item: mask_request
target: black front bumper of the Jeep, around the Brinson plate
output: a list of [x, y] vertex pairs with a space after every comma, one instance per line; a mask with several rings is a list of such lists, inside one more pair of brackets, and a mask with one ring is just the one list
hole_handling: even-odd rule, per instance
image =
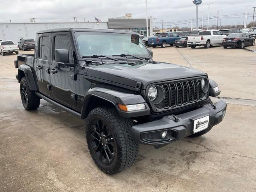
[[[135, 125], [131, 129], [132, 137], [137, 143], [154, 146], [175, 142], [193, 134], [196, 119], [209, 115], [208, 126], [220, 123], [226, 113], [226, 107], [227, 104], [221, 100], [184, 114], [164, 116], [160, 120]], [[154, 139], [154, 136], [159, 136], [165, 130], [170, 135], [168, 140]]]

